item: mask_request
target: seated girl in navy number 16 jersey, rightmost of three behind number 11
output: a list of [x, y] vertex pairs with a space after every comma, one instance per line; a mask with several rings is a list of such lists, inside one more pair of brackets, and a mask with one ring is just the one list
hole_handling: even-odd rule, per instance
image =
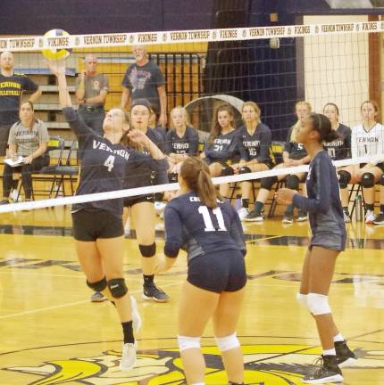
[[[260, 119], [262, 111], [255, 102], [245, 102], [242, 108], [244, 126], [238, 128], [239, 174], [265, 171], [273, 167], [271, 160], [271, 130]], [[249, 214], [249, 198], [252, 184], [241, 183], [241, 209], [243, 220]]]

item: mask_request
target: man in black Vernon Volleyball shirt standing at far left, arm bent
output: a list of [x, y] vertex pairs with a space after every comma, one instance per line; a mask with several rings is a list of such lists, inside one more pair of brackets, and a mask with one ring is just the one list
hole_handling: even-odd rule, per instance
[[0, 157], [5, 155], [8, 136], [13, 123], [19, 120], [21, 96], [30, 93], [29, 101], [41, 95], [38, 85], [23, 74], [13, 72], [13, 53], [0, 55]]

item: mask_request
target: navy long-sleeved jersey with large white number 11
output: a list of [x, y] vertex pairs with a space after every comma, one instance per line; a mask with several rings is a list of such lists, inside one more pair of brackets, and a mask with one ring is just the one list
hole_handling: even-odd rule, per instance
[[164, 253], [168, 257], [177, 257], [179, 249], [188, 252], [188, 261], [221, 250], [246, 253], [240, 219], [228, 202], [208, 209], [196, 193], [180, 195], [165, 208], [164, 225]]

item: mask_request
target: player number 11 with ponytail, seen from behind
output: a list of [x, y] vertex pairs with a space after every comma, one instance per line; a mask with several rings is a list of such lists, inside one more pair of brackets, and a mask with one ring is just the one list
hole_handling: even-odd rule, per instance
[[188, 252], [188, 278], [179, 302], [179, 350], [188, 384], [204, 385], [200, 338], [210, 318], [230, 384], [244, 381], [243, 354], [236, 326], [245, 294], [246, 244], [238, 214], [218, 200], [203, 160], [189, 157], [179, 173], [181, 195], [164, 211], [165, 257], [158, 271]]

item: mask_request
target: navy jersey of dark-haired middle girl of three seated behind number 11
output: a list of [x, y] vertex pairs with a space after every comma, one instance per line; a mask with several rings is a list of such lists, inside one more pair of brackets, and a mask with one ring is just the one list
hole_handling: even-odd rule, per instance
[[236, 160], [238, 154], [238, 136], [236, 130], [225, 135], [218, 135], [213, 143], [209, 144], [205, 149], [205, 160], [208, 163], [214, 161]]

